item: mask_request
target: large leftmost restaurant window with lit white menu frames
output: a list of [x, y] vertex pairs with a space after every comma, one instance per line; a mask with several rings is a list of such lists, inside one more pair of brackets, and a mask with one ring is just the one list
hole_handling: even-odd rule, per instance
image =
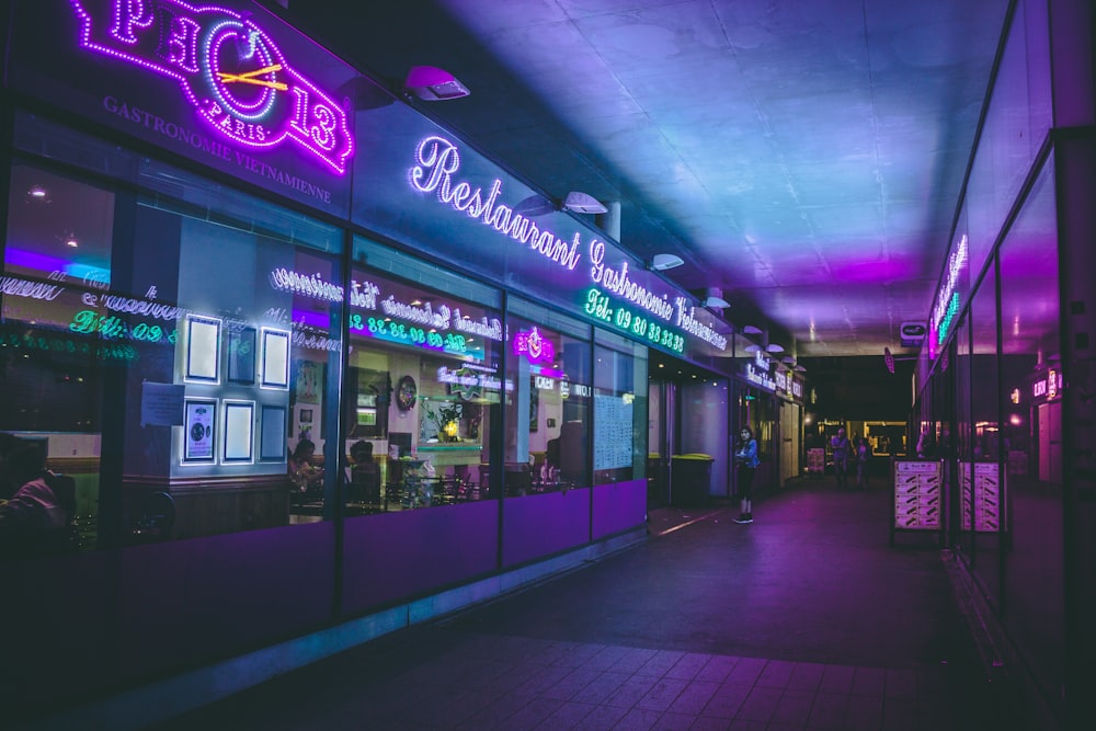
[[[342, 274], [322, 251], [338, 229], [207, 197], [197, 212], [12, 167], [0, 430], [41, 445], [72, 486], [79, 548], [332, 515]], [[304, 439], [315, 479], [297, 490], [287, 467]]]

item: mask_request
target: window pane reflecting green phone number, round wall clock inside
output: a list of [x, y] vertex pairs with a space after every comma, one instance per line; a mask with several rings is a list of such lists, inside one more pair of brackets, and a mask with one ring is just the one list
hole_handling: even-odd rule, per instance
[[492, 432], [512, 389], [500, 372], [501, 315], [446, 294], [475, 295], [471, 283], [450, 282], [444, 293], [423, 286], [453, 275], [364, 239], [355, 260], [420, 282], [351, 271], [341, 445], [347, 514], [493, 498]]

